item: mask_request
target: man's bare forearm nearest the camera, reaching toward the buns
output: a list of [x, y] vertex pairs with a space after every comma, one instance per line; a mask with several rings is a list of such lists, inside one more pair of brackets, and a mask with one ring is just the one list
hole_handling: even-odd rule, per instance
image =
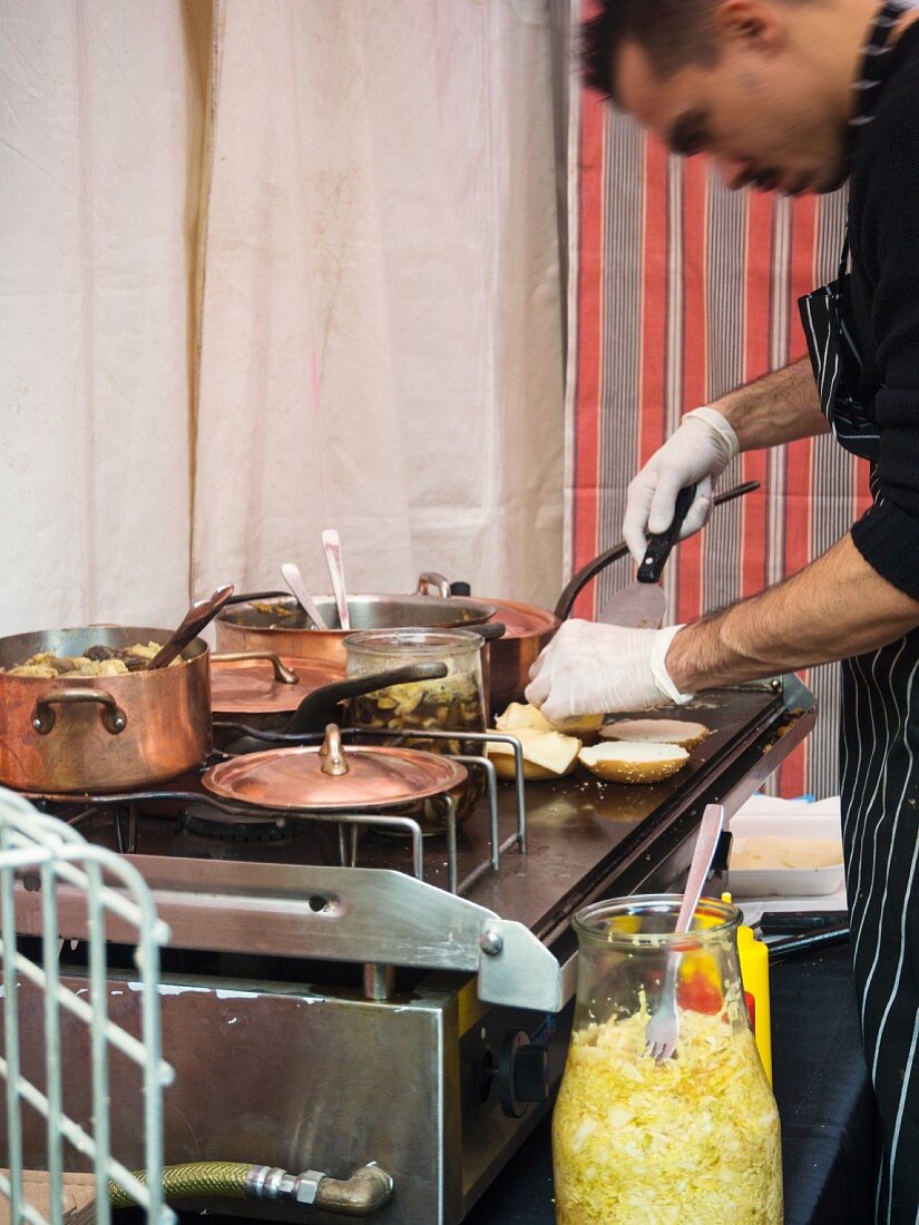
[[858, 655], [915, 626], [919, 603], [872, 570], [847, 534], [778, 587], [687, 625], [667, 670], [696, 693]]

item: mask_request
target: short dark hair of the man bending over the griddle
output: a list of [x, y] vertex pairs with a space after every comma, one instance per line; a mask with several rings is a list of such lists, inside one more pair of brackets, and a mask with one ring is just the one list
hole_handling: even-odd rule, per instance
[[714, 64], [718, 44], [712, 13], [719, 0], [600, 0], [581, 26], [584, 83], [615, 98], [613, 66], [624, 43], [636, 43], [665, 80], [687, 64]]

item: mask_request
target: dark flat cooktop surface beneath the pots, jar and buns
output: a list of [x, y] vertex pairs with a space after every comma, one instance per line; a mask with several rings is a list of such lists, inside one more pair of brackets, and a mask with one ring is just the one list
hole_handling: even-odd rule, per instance
[[[724, 794], [728, 784], [720, 795], [716, 793], [732, 764], [743, 758], [744, 768], [749, 768], [746, 757], [751, 752], [761, 756], [763, 740], [768, 745], [777, 739], [787, 718], [781, 692], [770, 688], [713, 692], [681, 708], [680, 713], [684, 712], [687, 718], [706, 723], [711, 735], [691, 750], [683, 771], [659, 784], [604, 783], [583, 769], [558, 782], [528, 783], [528, 854], [521, 854], [512, 844], [517, 828], [515, 788], [500, 784], [500, 842], [505, 848], [511, 845], [501, 855], [499, 869], [491, 870], [488, 813], [485, 804], [480, 804], [457, 833], [461, 893], [548, 940], [566, 926], [572, 910], [596, 895], [604, 882], [621, 880], [622, 892], [641, 887], [664, 853], [686, 842], [701, 805]], [[338, 862], [337, 823], [330, 823], [331, 816], [320, 822], [249, 810], [227, 822], [219, 813], [208, 818], [208, 796], [197, 777], [186, 775], [175, 786], [186, 793], [197, 789], [200, 802], [170, 806], [137, 797], [132, 805], [135, 840], [130, 848], [119, 845], [119, 831], [108, 805], [94, 809], [78, 828], [91, 842], [131, 851], [129, 858], [154, 887], [168, 888], [174, 878], [184, 882], [180, 888], [187, 888], [194, 877], [201, 888], [207, 888], [212, 880], [216, 886], [238, 891], [248, 888], [250, 877], [254, 887], [256, 881], [263, 882], [270, 865], [289, 870], [297, 865]], [[78, 799], [71, 802], [78, 807]], [[165, 811], [153, 820], [157, 807]], [[190, 862], [196, 860], [203, 862]], [[357, 866], [410, 872], [410, 843], [364, 831], [357, 844]], [[278, 878], [282, 875], [286, 873], [278, 873]], [[424, 839], [424, 880], [448, 889], [450, 865], [442, 837]]]

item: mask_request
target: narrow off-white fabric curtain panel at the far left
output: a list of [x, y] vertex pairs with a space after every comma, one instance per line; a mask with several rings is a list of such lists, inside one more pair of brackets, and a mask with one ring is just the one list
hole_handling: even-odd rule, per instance
[[181, 6], [154, 9], [0, 6], [5, 633], [186, 603], [202, 111]]

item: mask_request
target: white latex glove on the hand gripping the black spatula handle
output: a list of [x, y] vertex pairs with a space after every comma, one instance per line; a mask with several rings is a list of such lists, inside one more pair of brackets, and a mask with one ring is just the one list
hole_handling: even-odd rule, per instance
[[680, 540], [698, 532], [712, 510], [712, 485], [739, 451], [738, 436], [714, 408], [686, 413], [683, 424], [654, 452], [629, 486], [622, 538], [640, 565], [647, 538], [673, 523], [676, 495], [698, 483], [696, 496], [680, 529]]

